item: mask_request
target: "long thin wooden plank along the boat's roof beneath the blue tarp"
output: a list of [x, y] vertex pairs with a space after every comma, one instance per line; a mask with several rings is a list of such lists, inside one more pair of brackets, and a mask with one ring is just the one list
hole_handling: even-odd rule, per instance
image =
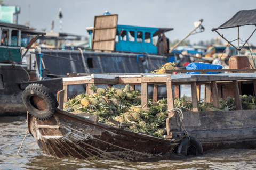
[[163, 70], [164, 73], [169, 74], [169, 73], [191, 73], [191, 72], [255, 72], [256, 69], [198, 69], [198, 70]]

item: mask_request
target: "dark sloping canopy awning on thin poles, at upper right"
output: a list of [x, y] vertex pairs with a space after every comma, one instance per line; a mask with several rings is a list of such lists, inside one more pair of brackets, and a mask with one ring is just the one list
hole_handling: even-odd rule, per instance
[[244, 25], [256, 25], [256, 10], [238, 11], [230, 20], [220, 25], [220, 27], [212, 28], [212, 31]]

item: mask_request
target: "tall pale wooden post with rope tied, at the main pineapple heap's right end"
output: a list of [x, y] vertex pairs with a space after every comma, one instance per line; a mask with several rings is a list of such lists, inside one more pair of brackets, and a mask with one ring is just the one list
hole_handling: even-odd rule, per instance
[[[168, 110], [174, 109], [174, 98], [173, 98], [173, 91], [172, 91], [172, 82], [168, 81], [166, 82], [166, 89], [167, 89], [167, 105]], [[173, 117], [175, 112], [168, 112], [168, 118], [166, 119], [166, 129], [167, 129], [167, 135], [170, 135], [170, 118]]]

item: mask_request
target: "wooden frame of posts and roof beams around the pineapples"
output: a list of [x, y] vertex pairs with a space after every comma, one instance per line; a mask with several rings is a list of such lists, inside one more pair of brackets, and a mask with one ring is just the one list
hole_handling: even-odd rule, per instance
[[[111, 88], [113, 85], [116, 84], [130, 84], [130, 89], [134, 90], [136, 84], [141, 84], [141, 104], [142, 106], [148, 107], [148, 85], [154, 85], [154, 95], [153, 101], [157, 102], [158, 98], [158, 85], [159, 84], [166, 84], [167, 89], [167, 105], [168, 110], [174, 109], [174, 97], [173, 97], [173, 85], [180, 86], [181, 84], [190, 84], [191, 85], [191, 96], [192, 96], [192, 106], [193, 112], [197, 112], [199, 110], [198, 107], [198, 89], [200, 89], [201, 84], [206, 84], [205, 88], [208, 89], [207, 94], [205, 96], [211, 97], [213, 105], [215, 108], [219, 108], [219, 95], [218, 95], [218, 86], [217, 82], [231, 82], [232, 86], [234, 87], [234, 97], [236, 103], [236, 109], [241, 110], [241, 99], [239, 97], [239, 86], [238, 81], [246, 81], [250, 80], [253, 81], [254, 90], [256, 91], [256, 76], [254, 77], [254, 73], [248, 73], [250, 76], [229, 76], [230, 74], [225, 75], [202, 75], [202, 74], [195, 74], [195, 75], [186, 75], [183, 78], [177, 77], [178, 75], [161, 75], [156, 77], [149, 77], [149, 76], [140, 76], [138, 77], [116, 77], [114, 79], [104, 79], [104, 78], [90, 78], [90, 79], [83, 79], [78, 80], [76, 78], [63, 78], [63, 89], [65, 90], [65, 101], [67, 101], [68, 96], [68, 86], [74, 84], [87, 84], [87, 92], [91, 94], [93, 91], [90, 90], [90, 86], [92, 84], [107, 84], [108, 88]], [[172, 79], [173, 77], [173, 79]], [[199, 85], [199, 86], [198, 86]], [[177, 87], [175, 87], [177, 89]], [[208, 101], [210, 102], [210, 101]], [[168, 118], [166, 119], [166, 128], [167, 128], [167, 135], [170, 135], [170, 118], [175, 115], [175, 112], [169, 112]]]

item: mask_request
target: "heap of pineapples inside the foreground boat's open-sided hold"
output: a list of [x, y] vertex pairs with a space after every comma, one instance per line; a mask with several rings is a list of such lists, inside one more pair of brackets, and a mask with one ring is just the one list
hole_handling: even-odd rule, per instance
[[[149, 98], [149, 107], [141, 106], [141, 92], [139, 89], [130, 90], [126, 85], [122, 89], [97, 88], [93, 85], [91, 89], [94, 94], [80, 94], [73, 99], [69, 99], [64, 104], [64, 109], [68, 112], [87, 112], [99, 117], [99, 122], [112, 124], [108, 118], [116, 121], [132, 123], [130, 128], [125, 128], [133, 132], [153, 135], [163, 138], [166, 135], [167, 99], [163, 98], [157, 103]], [[241, 96], [243, 109], [256, 109], [255, 97], [249, 95]], [[228, 97], [219, 99], [220, 109], [214, 108], [213, 103], [199, 101], [199, 111], [235, 110], [235, 99]], [[192, 111], [192, 103], [184, 98], [174, 100], [175, 108], [180, 108], [183, 112]]]

